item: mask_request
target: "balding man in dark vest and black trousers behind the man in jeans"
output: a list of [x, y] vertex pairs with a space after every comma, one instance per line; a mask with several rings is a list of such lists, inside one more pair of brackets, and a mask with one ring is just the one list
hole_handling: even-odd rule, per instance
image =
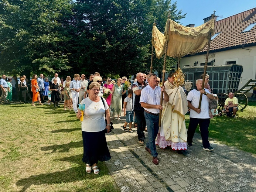
[[144, 117], [144, 109], [140, 104], [140, 93], [143, 88], [147, 86], [147, 83], [144, 82], [143, 73], [137, 73], [137, 81], [132, 84], [133, 91], [133, 111], [135, 112], [135, 117], [137, 120], [137, 134], [139, 139], [139, 145], [144, 145], [145, 134], [144, 129], [146, 127], [146, 119]]

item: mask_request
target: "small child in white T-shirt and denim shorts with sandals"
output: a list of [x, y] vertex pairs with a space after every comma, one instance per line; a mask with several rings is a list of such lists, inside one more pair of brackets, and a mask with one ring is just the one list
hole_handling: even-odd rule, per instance
[[132, 130], [132, 122], [133, 122], [133, 101], [132, 101], [132, 95], [133, 91], [132, 89], [128, 90], [128, 97], [124, 99], [124, 104], [123, 104], [123, 115], [126, 117], [126, 121], [124, 122], [123, 130], [128, 131], [126, 126], [129, 123], [129, 132], [133, 133]]

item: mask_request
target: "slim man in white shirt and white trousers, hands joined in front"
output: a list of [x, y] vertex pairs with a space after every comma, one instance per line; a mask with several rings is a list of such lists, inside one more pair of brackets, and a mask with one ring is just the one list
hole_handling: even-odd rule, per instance
[[74, 75], [74, 80], [71, 81], [70, 85], [69, 85], [69, 89], [71, 90], [71, 94], [72, 94], [72, 99], [73, 99], [73, 109], [74, 112], [77, 113], [77, 104], [78, 104], [78, 97], [79, 97], [79, 91], [81, 89], [81, 85], [79, 82], [79, 74], [75, 74]]

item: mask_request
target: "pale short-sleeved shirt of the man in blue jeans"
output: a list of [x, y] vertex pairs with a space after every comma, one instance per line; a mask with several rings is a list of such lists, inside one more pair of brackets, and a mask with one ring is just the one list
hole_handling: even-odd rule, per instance
[[[141, 90], [140, 93], [140, 104], [141, 103], [148, 103], [148, 104], [160, 104], [160, 97], [161, 97], [161, 88], [156, 86], [155, 89], [151, 88], [150, 85], [147, 85], [144, 89]], [[148, 112], [157, 114], [160, 113], [159, 109], [147, 109], [144, 107], [145, 110]]]

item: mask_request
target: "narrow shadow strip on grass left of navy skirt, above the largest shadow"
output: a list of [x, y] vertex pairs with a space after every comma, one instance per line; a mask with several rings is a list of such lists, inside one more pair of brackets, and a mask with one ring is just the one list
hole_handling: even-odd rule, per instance
[[51, 151], [49, 153], [54, 153], [54, 152], [67, 152], [69, 151], [70, 148], [78, 148], [78, 147], [83, 147], [83, 141], [76, 141], [76, 142], [70, 142], [62, 145], [50, 145], [47, 147], [41, 147], [42, 151]]

